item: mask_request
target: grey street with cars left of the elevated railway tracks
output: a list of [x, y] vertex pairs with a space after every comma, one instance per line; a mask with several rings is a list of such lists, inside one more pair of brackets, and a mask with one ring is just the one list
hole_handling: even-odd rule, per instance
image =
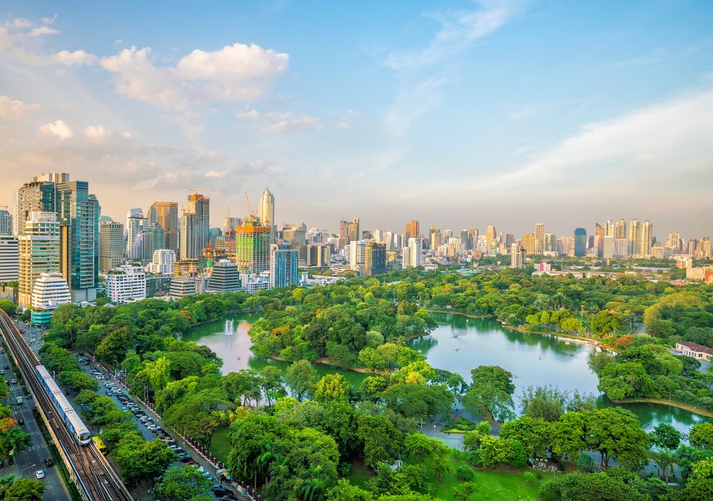
[[[21, 329], [24, 328], [21, 327]], [[6, 365], [10, 366], [6, 353], [0, 354], [0, 364], [3, 367]], [[44, 464], [46, 458], [51, 458], [51, 453], [32, 413], [34, 401], [22, 393], [19, 381], [18, 383], [11, 384], [13, 378], [18, 378], [16, 373], [12, 373], [11, 370], [5, 370], [4, 376], [10, 387], [10, 394], [6, 399], [6, 403], [11, 407], [15, 419], [24, 419], [25, 423], [22, 425], [22, 428], [30, 434], [31, 442], [29, 448], [19, 455], [16, 455], [14, 465], [9, 465], [7, 460], [3, 462], [0, 468], [0, 475], [15, 475], [16, 479], [35, 478], [36, 470], [43, 470], [45, 477], [41, 482], [43, 482], [46, 487], [43, 499], [47, 501], [68, 500], [69, 495], [65, 490], [57, 466], [46, 467]], [[17, 403], [18, 397], [22, 397], [23, 399], [21, 404]]]

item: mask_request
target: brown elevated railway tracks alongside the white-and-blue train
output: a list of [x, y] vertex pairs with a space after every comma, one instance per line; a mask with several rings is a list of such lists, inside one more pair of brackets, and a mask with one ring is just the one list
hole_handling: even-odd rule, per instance
[[68, 468], [71, 475], [76, 478], [75, 483], [81, 495], [91, 501], [133, 501], [135, 499], [133, 495], [97, 448], [93, 444], [82, 446], [76, 443], [63, 418], [35, 376], [35, 367], [39, 365], [39, 361], [34, 351], [4, 311], [0, 311], [0, 331], [21, 376], [34, 395], [36, 405], [47, 416], [57, 448], [68, 459]]

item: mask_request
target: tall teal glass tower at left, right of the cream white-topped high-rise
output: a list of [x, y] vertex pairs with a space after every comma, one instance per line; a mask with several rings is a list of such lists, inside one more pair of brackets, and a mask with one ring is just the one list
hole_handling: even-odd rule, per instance
[[101, 207], [86, 181], [57, 185], [60, 272], [72, 301], [94, 301], [99, 282], [99, 216]]

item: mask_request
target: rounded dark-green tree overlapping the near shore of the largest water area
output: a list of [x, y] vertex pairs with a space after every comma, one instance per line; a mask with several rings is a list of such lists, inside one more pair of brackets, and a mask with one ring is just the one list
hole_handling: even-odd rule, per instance
[[463, 406], [472, 413], [501, 422], [510, 418], [515, 407], [513, 374], [498, 366], [480, 366], [471, 374], [473, 382], [463, 397]]

